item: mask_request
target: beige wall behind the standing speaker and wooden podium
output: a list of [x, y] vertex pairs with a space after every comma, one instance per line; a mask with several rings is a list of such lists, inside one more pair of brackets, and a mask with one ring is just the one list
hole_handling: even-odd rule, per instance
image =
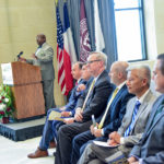
[[44, 33], [55, 50], [55, 99], [61, 106], [65, 101], [57, 83], [55, 13], [54, 0], [0, 0], [0, 63], [14, 61], [21, 50], [30, 58], [37, 48], [36, 35]]

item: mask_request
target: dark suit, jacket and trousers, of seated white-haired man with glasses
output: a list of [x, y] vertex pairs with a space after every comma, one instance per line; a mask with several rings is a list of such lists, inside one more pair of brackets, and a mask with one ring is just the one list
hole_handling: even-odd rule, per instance
[[[59, 128], [58, 139], [57, 139], [57, 151], [55, 157], [55, 164], [70, 164], [71, 161], [71, 145], [72, 139], [90, 129], [92, 124], [91, 116], [94, 115], [98, 118], [104, 112], [108, 95], [112, 94], [114, 85], [109, 82], [109, 77], [107, 71], [103, 71], [97, 78], [93, 91], [91, 92], [85, 108], [83, 110], [82, 122], [73, 122], [71, 125], [63, 125]], [[82, 107], [85, 96], [87, 95], [87, 90], [78, 99], [77, 107]]]

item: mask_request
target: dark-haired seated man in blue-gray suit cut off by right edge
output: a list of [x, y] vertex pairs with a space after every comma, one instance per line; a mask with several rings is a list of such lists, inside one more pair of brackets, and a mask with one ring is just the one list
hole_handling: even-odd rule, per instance
[[130, 164], [164, 163], [164, 54], [157, 56], [153, 80], [155, 90], [162, 95], [153, 104], [142, 139], [130, 153]]

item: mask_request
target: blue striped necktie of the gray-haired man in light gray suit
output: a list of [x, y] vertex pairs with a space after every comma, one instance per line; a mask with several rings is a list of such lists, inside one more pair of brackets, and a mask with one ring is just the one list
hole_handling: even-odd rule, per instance
[[136, 102], [136, 106], [134, 106], [134, 109], [133, 109], [133, 114], [132, 114], [132, 119], [131, 119], [131, 122], [129, 125], [129, 127], [127, 128], [127, 130], [125, 131], [125, 137], [128, 137], [130, 131], [132, 130], [133, 128], [133, 124], [134, 124], [134, 119], [136, 119], [136, 116], [138, 114], [138, 110], [139, 110], [139, 107], [140, 107], [141, 103], [139, 101]]

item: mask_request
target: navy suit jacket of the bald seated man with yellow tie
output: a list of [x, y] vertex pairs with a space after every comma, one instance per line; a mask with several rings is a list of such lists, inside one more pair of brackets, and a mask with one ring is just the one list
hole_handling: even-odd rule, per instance
[[[105, 137], [108, 137], [110, 132], [116, 131], [120, 127], [122, 117], [126, 113], [127, 102], [134, 95], [128, 93], [126, 84], [119, 90], [113, 103], [110, 104], [104, 121], [103, 130]], [[112, 96], [109, 96], [108, 101], [110, 97]], [[103, 115], [98, 117], [97, 122], [101, 122]]]

